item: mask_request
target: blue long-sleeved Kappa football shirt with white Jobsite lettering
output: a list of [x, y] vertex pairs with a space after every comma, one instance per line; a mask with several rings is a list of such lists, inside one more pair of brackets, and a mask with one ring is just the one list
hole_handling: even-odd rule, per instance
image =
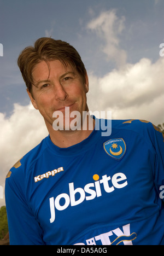
[[11, 168], [11, 245], [164, 245], [164, 136], [143, 120], [101, 132], [69, 148], [48, 136]]

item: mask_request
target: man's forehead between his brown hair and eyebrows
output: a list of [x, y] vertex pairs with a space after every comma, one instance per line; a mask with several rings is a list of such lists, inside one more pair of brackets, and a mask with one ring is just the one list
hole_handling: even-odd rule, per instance
[[69, 63], [63, 65], [59, 60], [41, 61], [32, 71], [33, 80], [42, 78], [50, 78], [52, 76], [58, 77], [66, 72], [75, 72], [75, 69]]

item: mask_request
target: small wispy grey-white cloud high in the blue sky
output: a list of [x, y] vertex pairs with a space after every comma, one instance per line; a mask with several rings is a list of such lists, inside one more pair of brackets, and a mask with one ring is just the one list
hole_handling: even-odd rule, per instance
[[87, 29], [95, 32], [102, 39], [102, 51], [108, 60], [114, 61], [118, 67], [126, 63], [126, 52], [120, 48], [122, 31], [125, 29], [125, 16], [118, 18], [114, 9], [103, 11], [97, 18], [87, 24]]

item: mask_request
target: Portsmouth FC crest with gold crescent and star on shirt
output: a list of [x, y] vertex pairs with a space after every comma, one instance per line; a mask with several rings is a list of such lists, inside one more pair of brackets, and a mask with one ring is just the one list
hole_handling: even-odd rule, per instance
[[108, 155], [116, 160], [121, 160], [126, 152], [126, 144], [122, 138], [109, 139], [109, 141], [104, 142], [103, 148]]

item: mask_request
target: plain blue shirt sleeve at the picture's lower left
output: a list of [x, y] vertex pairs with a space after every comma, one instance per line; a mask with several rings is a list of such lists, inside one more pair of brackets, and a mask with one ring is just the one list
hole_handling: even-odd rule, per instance
[[12, 173], [5, 181], [10, 245], [44, 245], [43, 230], [28, 207]]

